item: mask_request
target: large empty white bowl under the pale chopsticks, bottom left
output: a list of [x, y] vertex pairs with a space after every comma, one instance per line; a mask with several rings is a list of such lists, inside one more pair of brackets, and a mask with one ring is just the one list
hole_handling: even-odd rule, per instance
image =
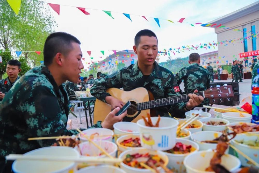
[[[62, 146], [43, 147], [32, 150], [24, 155], [80, 157], [80, 154], [74, 148]], [[12, 170], [16, 173], [69, 173], [76, 171], [76, 163], [69, 161], [16, 160], [12, 164]]]

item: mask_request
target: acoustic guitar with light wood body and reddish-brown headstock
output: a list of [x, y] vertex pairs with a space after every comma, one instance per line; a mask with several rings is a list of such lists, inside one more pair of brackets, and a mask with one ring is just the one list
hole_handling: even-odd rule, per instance
[[[154, 100], [153, 94], [143, 87], [136, 88], [131, 91], [123, 91], [118, 88], [109, 88], [106, 92], [110, 93], [111, 96], [113, 96], [114, 98], [117, 98], [125, 103], [128, 101], [131, 102], [131, 106], [127, 110], [127, 115], [123, 119], [123, 121], [130, 122], [138, 121], [142, 118], [141, 115], [146, 116], [147, 113], [149, 113], [151, 116], [155, 116], [155, 110], [152, 108], [185, 102], [190, 99], [188, 94], [183, 94]], [[197, 94], [197, 96], [201, 95], [204, 98], [209, 99], [234, 97], [231, 85], [210, 88], [205, 91], [197, 92], [195, 94]], [[111, 110], [111, 105], [96, 99], [93, 114], [94, 123], [97, 123], [97, 121], [103, 121], [105, 117], [111, 112]]]

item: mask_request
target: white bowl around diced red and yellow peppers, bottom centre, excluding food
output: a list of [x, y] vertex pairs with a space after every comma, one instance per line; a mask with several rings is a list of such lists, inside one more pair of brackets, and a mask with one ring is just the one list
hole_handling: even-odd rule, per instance
[[[132, 155], [132, 154], [136, 154], [136, 153], [139, 153], [139, 154], [149, 153], [149, 154], [153, 154], [153, 155], [158, 155], [164, 161], [165, 166], [167, 166], [167, 164], [168, 164], [168, 157], [164, 152], [148, 150], [145, 148], [140, 148], [140, 149], [136, 149], [136, 150], [126, 150], [119, 155], [119, 159], [124, 160], [126, 158], [127, 154]], [[123, 169], [124, 171], [126, 171], [127, 173], [143, 173], [143, 172], [153, 173], [149, 169], [133, 168], [133, 167], [130, 167], [130, 166], [124, 164], [123, 162], [120, 163], [120, 168]], [[161, 167], [158, 167], [157, 170], [162, 171], [163, 169]]]

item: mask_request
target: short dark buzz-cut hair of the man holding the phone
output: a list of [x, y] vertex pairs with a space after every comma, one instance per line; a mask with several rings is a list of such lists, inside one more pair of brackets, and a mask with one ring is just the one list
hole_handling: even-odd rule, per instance
[[57, 53], [67, 55], [71, 49], [73, 49], [71, 43], [81, 44], [80, 41], [66, 32], [54, 32], [51, 33], [44, 44], [43, 56], [44, 64], [46, 66], [51, 65], [53, 58]]

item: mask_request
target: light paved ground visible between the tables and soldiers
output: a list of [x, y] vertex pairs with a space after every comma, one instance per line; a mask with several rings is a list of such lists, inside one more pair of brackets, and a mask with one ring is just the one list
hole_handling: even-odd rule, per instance
[[[214, 80], [214, 82], [217, 82], [217, 80]], [[220, 80], [219, 82], [231, 82], [231, 80]], [[184, 89], [183, 83], [180, 85], [181, 89]], [[247, 96], [251, 96], [251, 79], [245, 79], [243, 80], [243, 82], [239, 82], [239, 93], [240, 95], [240, 101], [244, 98], [246, 98]], [[222, 105], [213, 105], [215, 107], [226, 107], [226, 106], [222, 106]], [[87, 111], [88, 112], [88, 111]], [[85, 119], [85, 113], [84, 111], [81, 111], [81, 116], [84, 116], [81, 118], [82, 120], [82, 124], [80, 124], [80, 119], [79, 119], [79, 113], [78, 112], [74, 112], [78, 117], [74, 117], [72, 114], [69, 114], [69, 119], [71, 119], [72, 121], [72, 129], [75, 128], [87, 128], [87, 123], [86, 123], [86, 119]], [[213, 113], [213, 110], [210, 110], [211, 114]], [[88, 123], [90, 126], [90, 120], [89, 120], [89, 115], [88, 115]]]

